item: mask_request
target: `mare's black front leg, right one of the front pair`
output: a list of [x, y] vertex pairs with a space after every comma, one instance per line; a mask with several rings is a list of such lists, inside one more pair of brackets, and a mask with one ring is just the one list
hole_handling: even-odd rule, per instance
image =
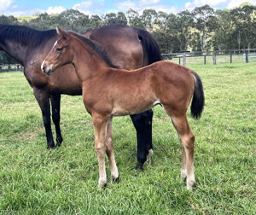
[[60, 127], [60, 120], [61, 120], [61, 94], [55, 94], [50, 96], [51, 102], [51, 112], [52, 112], [52, 120], [55, 124], [55, 131], [56, 131], [56, 142], [57, 146], [61, 146], [61, 142], [63, 138], [61, 136], [61, 127]]

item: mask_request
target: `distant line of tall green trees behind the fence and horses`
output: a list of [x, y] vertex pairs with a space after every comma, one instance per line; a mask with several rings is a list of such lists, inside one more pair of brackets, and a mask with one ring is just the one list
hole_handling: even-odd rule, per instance
[[[38, 14], [31, 19], [0, 16], [0, 24], [24, 25], [38, 30], [60, 26], [75, 32], [87, 32], [111, 23], [135, 26], [152, 33], [162, 53], [256, 48], [256, 6], [243, 3], [236, 9], [212, 9], [209, 5], [177, 14], [144, 9], [143, 14], [129, 9], [106, 15], [84, 15], [67, 9], [60, 15]], [[2, 57], [1, 57], [2, 55]], [[0, 52], [0, 62], [12, 61]], [[9, 62], [4, 62], [9, 63]]]

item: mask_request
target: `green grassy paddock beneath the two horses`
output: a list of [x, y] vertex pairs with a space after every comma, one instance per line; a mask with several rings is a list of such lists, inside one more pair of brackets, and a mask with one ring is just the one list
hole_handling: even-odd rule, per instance
[[[154, 154], [136, 165], [129, 117], [113, 119], [119, 183], [97, 190], [93, 128], [81, 96], [62, 96], [61, 148], [46, 149], [38, 103], [22, 73], [0, 73], [0, 213], [181, 214], [256, 212], [256, 64], [192, 65], [206, 106], [195, 132], [196, 187], [180, 180], [181, 146], [154, 108]], [[108, 181], [110, 178], [107, 165]]]

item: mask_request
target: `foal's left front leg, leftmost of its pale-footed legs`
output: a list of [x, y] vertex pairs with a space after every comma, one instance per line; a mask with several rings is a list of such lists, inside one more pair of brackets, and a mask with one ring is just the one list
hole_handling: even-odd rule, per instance
[[95, 151], [99, 163], [99, 183], [98, 189], [101, 189], [107, 185], [107, 175], [105, 167], [105, 154], [106, 154], [106, 131], [108, 124], [108, 117], [101, 114], [93, 113], [91, 115], [92, 123], [95, 133]]

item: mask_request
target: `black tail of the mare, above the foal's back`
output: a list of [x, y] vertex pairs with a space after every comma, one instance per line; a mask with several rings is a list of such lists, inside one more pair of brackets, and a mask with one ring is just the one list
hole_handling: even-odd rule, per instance
[[152, 35], [143, 29], [136, 28], [136, 30], [143, 46], [143, 67], [156, 61], [162, 61], [160, 47]]

